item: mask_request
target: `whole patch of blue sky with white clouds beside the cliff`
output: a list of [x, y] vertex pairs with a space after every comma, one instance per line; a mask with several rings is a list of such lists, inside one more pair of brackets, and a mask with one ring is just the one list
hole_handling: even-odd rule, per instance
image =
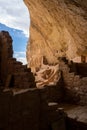
[[13, 39], [14, 57], [26, 64], [29, 37], [29, 13], [23, 0], [0, 0], [0, 31], [9, 31]]

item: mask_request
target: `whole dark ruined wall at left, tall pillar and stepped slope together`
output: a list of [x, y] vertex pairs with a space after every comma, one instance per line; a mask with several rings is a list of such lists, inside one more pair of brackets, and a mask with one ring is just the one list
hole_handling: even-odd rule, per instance
[[8, 32], [0, 32], [0, 80], [7, 87], [35, 87], [30, 68], [13, 58], [12, 38]]

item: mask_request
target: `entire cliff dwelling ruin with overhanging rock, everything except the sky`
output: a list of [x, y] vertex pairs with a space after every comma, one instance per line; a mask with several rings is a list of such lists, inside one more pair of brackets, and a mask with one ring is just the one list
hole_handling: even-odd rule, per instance
[[87, 130], [87, 1], [24, 2], [27, 65], [0, 32], [0, 130]]

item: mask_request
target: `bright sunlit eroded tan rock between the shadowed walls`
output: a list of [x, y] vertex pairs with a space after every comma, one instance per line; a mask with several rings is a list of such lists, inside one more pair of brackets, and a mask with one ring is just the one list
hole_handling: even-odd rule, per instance
[[36, 72], [37, 87], [44, 87], [45, 85], [56, 85], [61, 77], [59, 66], [43, 65], [40, 71]]

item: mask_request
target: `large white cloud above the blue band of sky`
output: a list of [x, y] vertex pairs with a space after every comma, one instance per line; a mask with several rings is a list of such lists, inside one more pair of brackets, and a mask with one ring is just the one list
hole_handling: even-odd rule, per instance
[[29, 37], [29, 12], [23, 0], [0, 0], [0, 23]]

